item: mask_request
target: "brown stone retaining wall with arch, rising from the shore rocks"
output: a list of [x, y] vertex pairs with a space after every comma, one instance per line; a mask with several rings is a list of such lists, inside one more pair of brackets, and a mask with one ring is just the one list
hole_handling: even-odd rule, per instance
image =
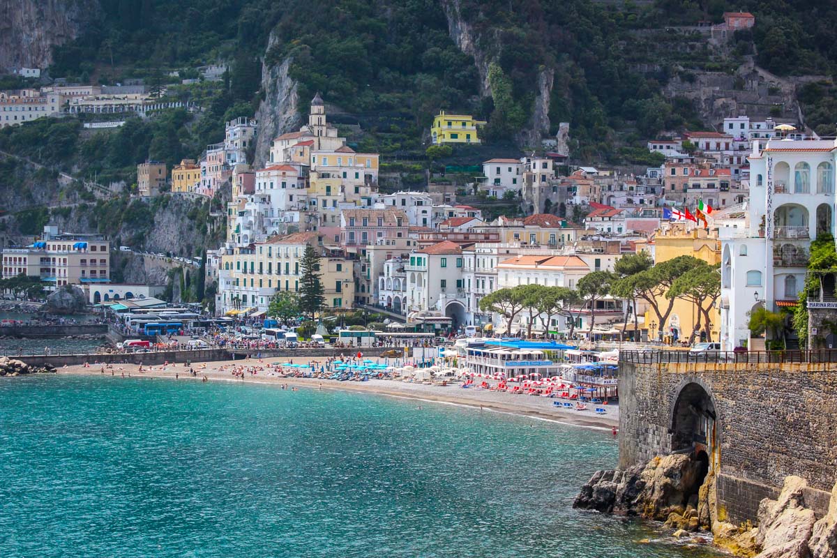
[[[703, 395], [706, 397], [703, 397]], [[757, 519], [786, 476], [824, 514], [837, 480], [837, 366], [619, 364], [619, 467], [705, 449], [721, 519]]]

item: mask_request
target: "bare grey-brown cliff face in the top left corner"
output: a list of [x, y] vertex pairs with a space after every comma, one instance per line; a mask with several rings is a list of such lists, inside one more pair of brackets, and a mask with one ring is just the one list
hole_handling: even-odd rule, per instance
[[0, 69], [47, 67], [99, 12], [98, 0], [0, 0]]

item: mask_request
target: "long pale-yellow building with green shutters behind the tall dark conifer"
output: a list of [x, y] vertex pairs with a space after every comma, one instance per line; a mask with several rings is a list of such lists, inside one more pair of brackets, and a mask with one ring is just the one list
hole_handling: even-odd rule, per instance
[[[322, 240], [318, 233], [292, 233], [229, 248], [221, 256], [216, 309], [220, 313], [264, 311], [274, 294], [299, 293], [302, 256], [307, 246], [322, 252]], [[326, 308], [352, 308], [355, 282], [351, 260], [322, 256], [320, 279]]]

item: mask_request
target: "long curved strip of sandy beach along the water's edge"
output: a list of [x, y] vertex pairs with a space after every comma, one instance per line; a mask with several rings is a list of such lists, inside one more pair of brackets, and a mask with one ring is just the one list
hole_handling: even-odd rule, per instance
[[[286, 362], [285, 358], [271, 358], [271, 359], [247, 359], [245, 361], [218, 361], [193, 364], [193, 370], [197, 372], [198, 376], [189, 374], [188, 366], [168, 365], [168, 366], [143, 366], [140, 371], [139, 365], [133, 364], [115, 364], [112, 367], [105, 367], [103, 365], [90, 364], [90, 367], [85, 366], [68, 366], [60, 368], [60, 374], [84, 374], [90, 376], [100, 376], [104, 369], [105, 375], [121, 376], [139, 376], [139, 377], [158, 377], [171, 378], [177, 377], [178, 381], [202, 381], [203, 376], [207, 376], [208, 381], [232, 381], [232, 382], [248, 382], [275, 386], [287, 384], [292, 387], [300, 387], [307, 389], [338, 389], [347, 392], [358, 393], [375, 393], [388, 397], [407, 397], [411, 399], [439, 402], [455, 405], [465, 405], [469, 407], [482, 407], [484, 410], [493, 412], [507, 412], [518, 415], [526, 415], [529, 417], [537, 417], [556, 422], [563, 422], [573, 424], [579, 427], [593, 427], [610, 430], [612, 427], [619, 426], [619, 406], [606, 406], [606, 414], [597, 415], [593, 412], [593, 406], [588, 407], [586, 411], [576, 411], [574, 409], [559, 409], [553, 407], [552, 402], [562, 401], [560, 399], [553, 399], [548, 397], [536, 397], [529, 395], [512, 395], [506, 392], [490, 392], [488, 390], [478, 390], [474, 388], [463, 389], [460, 387], [460, 382], [454, 382], [448, 386], [432, 386], [417, 382], [407, 382], [398, 380], [369, 380], [369, 381], [334, 381], [321, 380], [318, 378], [296, 378], [280, 376], [275, 372], [275, 365]], [[317, 362], [318, 364], [324, 362], [325, 359], [306, 358], [296, 359], [296, 362]], [[256, 374], [251, 375], [249, 371], [244, 373], [244, 377], [236, 377], [233, 371], [236, 368], [244, 366], [245, 370], [255, 368]]]

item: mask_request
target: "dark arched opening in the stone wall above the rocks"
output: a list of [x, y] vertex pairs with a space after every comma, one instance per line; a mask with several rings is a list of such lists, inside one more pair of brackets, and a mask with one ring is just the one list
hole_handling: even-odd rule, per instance
[[[715, 404], [709, 393], [695, 382], [680, 390], [671, 415], [671, 451], [675, 453], [705, 452], [715, 447]], [[708, 463], [708, 457], [707, 457]]]

